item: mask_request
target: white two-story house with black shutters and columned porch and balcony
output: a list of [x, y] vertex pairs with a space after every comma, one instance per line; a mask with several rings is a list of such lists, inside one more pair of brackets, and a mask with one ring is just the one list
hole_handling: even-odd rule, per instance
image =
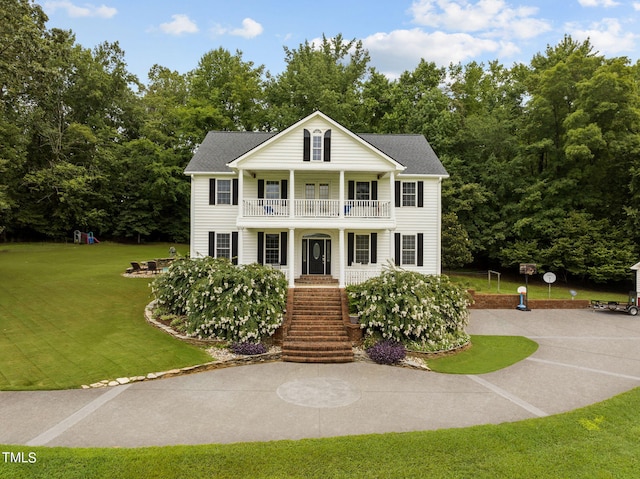
[[441, 182], [421, 135], [356, 134], [321, 112], [278, 133], [212, 131], [191, 177], [191, 257], [279, 268], [339, 286], [389, 261], [440, 273]]

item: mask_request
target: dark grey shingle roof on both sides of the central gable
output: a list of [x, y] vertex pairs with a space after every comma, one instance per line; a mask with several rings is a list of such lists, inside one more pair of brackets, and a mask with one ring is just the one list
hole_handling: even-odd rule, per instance
[[[210, 131], [185, 169], [190, 173], [230, 173], [227, 164], [277, 133]], [[365, 142], [406, 167], [405, 174], [447, 175], [422, 135], [359, 134]]]

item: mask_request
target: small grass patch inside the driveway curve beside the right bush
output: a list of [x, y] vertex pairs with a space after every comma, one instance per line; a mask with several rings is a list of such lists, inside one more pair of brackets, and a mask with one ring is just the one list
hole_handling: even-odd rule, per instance
[[471, 336], [471, 348], [453, 356], [427, 361], [432, 371], [448, 374], [484, 374], [531, 356], [538, 343], [523, 336]]

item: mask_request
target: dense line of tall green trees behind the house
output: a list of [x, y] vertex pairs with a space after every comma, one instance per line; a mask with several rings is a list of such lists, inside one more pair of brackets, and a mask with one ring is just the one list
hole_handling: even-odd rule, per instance
[[118, 43], [48, 29], [30, 0], [0, 0], [0, 234], [186, 241], [182, 171], [209, 130], [277, 131], [321, 110], [356, 132], [420, 133], [443, 185], [443, 260], [564, 277], [627, 277], [640, 254], [640, 65], [565, 37], [529, 64], [389, 79], [357, 40], [284, 48], [286, 67], [225, 49], [146, 83]]

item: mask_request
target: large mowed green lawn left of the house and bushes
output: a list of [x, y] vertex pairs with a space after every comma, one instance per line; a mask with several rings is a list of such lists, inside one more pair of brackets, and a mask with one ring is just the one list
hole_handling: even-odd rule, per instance
[[210, 360], [149, 326], [149, 280], [121, 276], [169, 246], [0, 245], [0, 390], [74, 388]]

